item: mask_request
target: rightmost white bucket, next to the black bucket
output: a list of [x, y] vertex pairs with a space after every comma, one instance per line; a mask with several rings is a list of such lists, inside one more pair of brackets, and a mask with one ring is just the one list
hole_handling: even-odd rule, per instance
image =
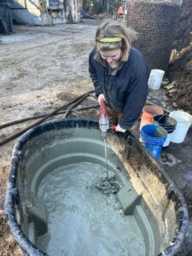
[[183, 111], [172, 111], [170, 116], [177, 120], [175, 131], [172, 133], [172, 143], [183, 143], [189, 127], [192, 123], [192, 116]]

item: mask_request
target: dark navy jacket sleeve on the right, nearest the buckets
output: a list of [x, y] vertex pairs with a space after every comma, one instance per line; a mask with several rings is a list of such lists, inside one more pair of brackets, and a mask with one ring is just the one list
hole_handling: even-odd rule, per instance
[[119, 120], [119, 125], [125, 130], [131, 129], [142, 113], [148, 96], [148, 77], [149, 73], [132, 79], [131, 91], [125, 96], [125, 107]]

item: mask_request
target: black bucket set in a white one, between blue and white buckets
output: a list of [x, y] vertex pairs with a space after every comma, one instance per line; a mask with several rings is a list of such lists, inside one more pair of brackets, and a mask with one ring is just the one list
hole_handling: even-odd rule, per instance
[[167, 131], [166, 142], [163, 144], [163, 147], [169, 146], [172, 139], [172, 133], [176, 129], [177, 121], [171, 116], [158, 114], [154, 116], [153, 123], [154, 125], [160, 125]]

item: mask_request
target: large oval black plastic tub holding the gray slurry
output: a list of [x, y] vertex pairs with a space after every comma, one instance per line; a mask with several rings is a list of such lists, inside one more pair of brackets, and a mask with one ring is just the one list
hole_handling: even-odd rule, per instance
[[[125, 132], [123, 137], [120, 133], [111, 130], [108, 133], [110, 134], [107, 143], [109, 170], [110, 172], [114, 170], [119, 182], [121, 175], [123, 175], [120, 190], [122, 193], [119, 191], [121, 193], [120, 197], [126, 199], [126, 193], [124, 192], [128, 193], [129, 198], [132, 195], [130, 194], [132, 192], [126, 186], [125, 177], [127, 175], [133, 177], [131, 178], [131, 186], [135, 187], [139, 184], [139, 191], [142, 191], [142, 195], [139, 195], [136, 199], [134, 198], [130, 207], [125, 203], [124, 209], [126, 211], [126, 208], [129, 207], [131, 212], [139, 211], [139, 214], [134, 214], [134, 218], [137, 215], [136, 218], [138, 218], [139, 225], [143, 229], [145, 254], [176, 255], [178, 250], [182, 249], [188, 230], [188, 208], [183, 194], [177, 188], [176, 183], [172, 182], [172, 178], [166, 174], [163, 167], [152, 156], [146, 154], [145, 148], [130, 132]], [[46, 215], [42, 213], [46, 212], [47, 204], [38, 197], [37, 193], [39, 184], [48, 174], [45, 171], [52, 172], [54, 166], [58, 168], [60, 165], [65, 165], [65, 163], [68, 165], [84, 162], [85, 160], [93, 162], [95, 165], [101, 163], [102, 166], [105, 166], [103, 147], [104, 143], [98, 119], [82, 117], [50, 120], [33, 127], [19, 138], [19, 141], [15, 144], [10, 166], [5, 212], [10, 231], [24, 255], [48, 256], [49, 253], [42, 251], [42, 247], [38, 245], [38, 238], [55, 236], [55, 230], [53, 230], [53, 234], [51, 234], [51, 230], [46, 234], [49, 218], [46, 218]], [[117, 166], [119, 166], [120, 172]], [[123, 174], [124, 167], [125, 175]], [[92, 171], [94, 175], [94, 170]], [[78, 170], [76, 176], [79, 183], [81, 183]], [[61, 184], [59, 183], [59, 177], [57, 182]], [[152, 182], [154, 182], [153, 185]], [[62, 184], [60, 187], [64, 191]], [[93, 187], [91, 186], [90, 189], [93, 189]], [[95, 191], [92, 191], [92, 193], [95, 196]], [[101, 194], [99, 191], [97, 193]], [[54, 201], [54, 198], [50, 200]], [[160, 207], [158, 207], [159, 205]], [[61, 210], [61, 207], [59, 210]], [[144, 212], [148, 207], [149, 212], [146, 216]], [[55, 211], [54, 208], [53, 211]], [[153, 218], [150, 219], [150, 212], [153, 213], [155, 222]], [[50, 213], [52, 214], [52, 212]], [[73, 212], [71, 213], [73, 214]], [[126, 214], [127, 212], [125, 218], [128, 216]], [[68, 216], [70, 224], [73, 218], [70, 218], [70, 215]], [[97, 226], [100, 226], [103, 220], [96, 219], [96, 221]], [[56, 224], [55, 219], [53, 219], [54, 223]], [[72, 224], [72, 228], [73, 226], [74, 224]], [[67, 230], [67, 227], [64, 226], [64, 229]], [[69, 233], [76, 235], [76, 230], [70, 228], [68, 230]], [[84, 236], [83, 231], [82, 233]], [[57, 237], [59, 237], [58, 234]], [[127, 237], [129, 238], [129, 232]], [[125, 239], [125, 236], [122, 239]], [[75, 242], [72, 243], [73, 247], [75, 247]], [[63, 239], [55, 240], [53, 246], [58, 247], [60, 243], [63, 243]], [[88, 247], [90, 247], [89, 243]], [[66, 248], [64, 249], [67, 252]], [[69, 250], [68, 254], [70, 253]], [[79, 252], [76, 254], [79, 255]], [[84, 255], [84, 252], [80, 254]], [[57, 253], [57, 255], [59, 254]]]

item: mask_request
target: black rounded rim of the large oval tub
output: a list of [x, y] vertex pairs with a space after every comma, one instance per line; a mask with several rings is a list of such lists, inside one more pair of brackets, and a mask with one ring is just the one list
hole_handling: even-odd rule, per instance
[[[6, 190], [6, 197], [5, 197], [5, 213], [7, 218], [7, 223], [9, 224], [10, 231], [15, 238], [15, 241], [19, 244], [20, 248], [26, 255], [37, 255], [37, 256], [45, 256], [48, 255], [43, 251], [39, 250], [29, 239], [24, 235], [23, 231], [20, 230], [20, 225], [18, 224], [15, 216], [15, 206], [17, 200], [17, 188], [15, 187], [16, 182], [16, 175], [17, 175], [17, 168], [18, 164], [21, 159], [21, 150], [23, 145], [30, 140], [32, 137], [36, 137], [38, 134], [44, 133], [44, 131], [52, 131], [54, 129], [63, 129], [63, 128], [76, 128], [77, 125], [79, 127], [93, 127], [94, 129], [99, 129], [98, 119], [95, 118], [87, 118], [87, 117], [71, 117], [67, 119], [53, 119], [47, 122], [44, 122], [41, 125], [37, 125], [26, 131], [15, 143], [15, 147], [12, 154], [11, 165], [9, 169], [9, 180]], [[108, 131], [109, 133], [113, 133], [114, 131]], [[144, 154], [153, 161], [153, 163], [158, 166], [158, 169], [162, 173], [164, 177], [166, 177], [167, 183], [169, 183], [172, 187], [172, 191], [177, 195], [177, 200], [181, 205], [180, 209], [180, 223], [179, 229], [175, 233], [173, 241], [170, 242], [170, 245], [164, 249], [158, 256], [166, 255], [166, 256], [173, 256], [177, 253], [178, 249], [181, 247], [183, 243], [184, 236], [187, 232], [188, 228], [188, 208], [187, 204], [184, 200], [183, 194], [177, 188], [176, 183], [172, 180], [166, 171], [163, 169], [160, 164], [154, 160], [154, 158], [145, 150], [143, 145], [137, 141], [137, 138], [134, 137], [130, 131], [126, 131], [125, 133], [117, 132], [116, 135], [118, 137], [124, 137], [126, 142], [128, 141], [129, 137], [131, 137], [134, 142], [137, 144], [138, 148], [143, 150]]]

